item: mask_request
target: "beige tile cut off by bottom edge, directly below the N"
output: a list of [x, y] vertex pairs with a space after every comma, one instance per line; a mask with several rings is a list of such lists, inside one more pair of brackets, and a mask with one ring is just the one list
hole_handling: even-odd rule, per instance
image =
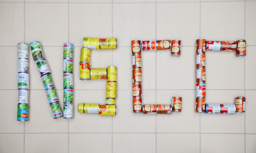
[[26, 134], [25, 153], [68, 153], [68, 134]]

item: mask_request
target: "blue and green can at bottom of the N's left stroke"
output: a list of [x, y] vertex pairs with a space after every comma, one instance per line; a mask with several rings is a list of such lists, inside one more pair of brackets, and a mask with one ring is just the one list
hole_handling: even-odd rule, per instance
[[18, 103], [17, 121], [29, 121], [29, 104]]

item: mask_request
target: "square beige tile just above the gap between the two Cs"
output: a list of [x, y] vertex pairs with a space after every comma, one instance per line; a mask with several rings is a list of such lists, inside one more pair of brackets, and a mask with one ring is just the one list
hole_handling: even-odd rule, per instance
[[200, 3], [157, 3], [158, 40], [178, 39], [184, 46], [195, 46], [199, 37]]

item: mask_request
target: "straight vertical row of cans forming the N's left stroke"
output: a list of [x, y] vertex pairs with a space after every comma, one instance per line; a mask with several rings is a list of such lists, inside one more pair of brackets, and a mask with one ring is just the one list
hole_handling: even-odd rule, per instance
[[17, 121], [29, 121], [29, 55], [28, 44], [18, 44], [18, 110]]

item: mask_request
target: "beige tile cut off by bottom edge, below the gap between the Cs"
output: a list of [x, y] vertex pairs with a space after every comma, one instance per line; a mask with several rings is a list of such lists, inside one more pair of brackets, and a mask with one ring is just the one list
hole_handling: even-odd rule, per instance
[[199, 153], [199, 134], [157, 134], [157, 153]]

